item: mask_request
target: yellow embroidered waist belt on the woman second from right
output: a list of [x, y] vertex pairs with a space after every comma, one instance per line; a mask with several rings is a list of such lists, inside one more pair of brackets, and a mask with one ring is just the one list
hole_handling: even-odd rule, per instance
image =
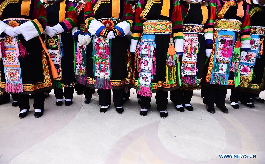
[[236, 19], [216, 19], [213, 28], [215, 30], [241, 31], [241, 21]]

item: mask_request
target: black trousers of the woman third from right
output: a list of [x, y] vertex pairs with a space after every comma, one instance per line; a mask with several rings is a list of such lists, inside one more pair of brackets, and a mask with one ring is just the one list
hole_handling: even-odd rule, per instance
[[193, 91], [187, 91], [183, 89], [176, 89], [170, 91], [170, 100], [175, 105], [190, 104]]

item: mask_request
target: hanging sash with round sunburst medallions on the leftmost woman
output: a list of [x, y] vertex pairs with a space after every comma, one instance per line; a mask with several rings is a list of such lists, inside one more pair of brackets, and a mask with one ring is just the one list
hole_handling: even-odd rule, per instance
[[18, 37], [6, 36], [1, 43], [7, 93], [23, 92], [17, 41]]

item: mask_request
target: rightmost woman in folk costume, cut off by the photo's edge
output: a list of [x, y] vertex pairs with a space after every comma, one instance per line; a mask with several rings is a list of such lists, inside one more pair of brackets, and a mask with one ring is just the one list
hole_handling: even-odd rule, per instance
[[[264, 90], [265, 1], [259, 1], [250, 1], [252, 6], [249, 11], [251, 47], [245, 58], [240, 59], [240, 86], [231, 91], [231, 106], [235, 109], [239, 109], [238, 101], [250, 108], [255, 108], [250, 97], [257, 97], [259, 101], [261, 98], [258, 95]], [[257, 95], [252, 96], [253, 94]]]

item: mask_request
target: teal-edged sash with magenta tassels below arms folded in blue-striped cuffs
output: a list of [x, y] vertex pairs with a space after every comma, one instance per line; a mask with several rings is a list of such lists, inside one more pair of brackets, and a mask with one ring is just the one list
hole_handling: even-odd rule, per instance
[[111, 39], [94, 36], [92, 43], [94, 59], [94, 76], [97, 89], [112, 89], [111, 77]]

